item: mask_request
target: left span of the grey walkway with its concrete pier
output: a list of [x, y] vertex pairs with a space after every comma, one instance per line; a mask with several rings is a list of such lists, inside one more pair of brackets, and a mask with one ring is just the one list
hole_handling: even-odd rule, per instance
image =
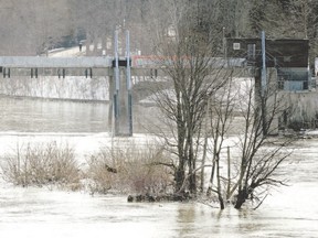
[[[131, 108], [131, 94], [127, 96], [127, 84], [131, 79], [124, 68], [126, 67], [120, 65], [117, 75], [113, 57], [0, 57], [0, 73], [2, 73], [3, 79], [19, 78], [23, 80], [24, 78], [25, 80], [50, 77], [54, 82], [55, 78], [71, 77], [75, 79], [78, 77], [77, 82], [80, 78], [86, 78], [88, 82], [92, 78], [93, 80], [98, 77], [108, 78], [108, 95], [113, 106], [109, 107], [109, 122], [113, 123], [112, 121], [115, 120], [115, 136], [132, 134], [132, 123], [128, 120], [131, 119], [131, 109], [129, 109], [129, 107]], [[118, 83], [116, 77], [118, 77]], [[21, 80], [18, 80], [18, 84]], [[61, 89], [61, 87], [59, 88]]]

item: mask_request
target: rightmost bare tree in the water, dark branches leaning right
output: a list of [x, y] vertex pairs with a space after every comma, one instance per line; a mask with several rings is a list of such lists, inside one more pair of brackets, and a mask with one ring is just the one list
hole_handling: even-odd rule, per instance
[[[276, 172], [290, 154], [286, 147], [293, 141], [269, 136], [277, 130], [277, 117], [283, 111], [282, 96], [275, 79], [268, 83], [265, 93], [261, 93], [259, 87], [253, 83], [246, 87], [246, 93], [241, 113], [244, 127], [236, 143], [240, 154], [236, 167], [239, 174], [229, 194], [229, 197], [235, 194], [235, 208], [241, 208], [246, 199], [262, 204], [259, 195], [264, 195], [271, 186], [284, 184], [284, 178], [277, 176]], [[262, 107], [266, 107], [266, 110], [262, 110]]]

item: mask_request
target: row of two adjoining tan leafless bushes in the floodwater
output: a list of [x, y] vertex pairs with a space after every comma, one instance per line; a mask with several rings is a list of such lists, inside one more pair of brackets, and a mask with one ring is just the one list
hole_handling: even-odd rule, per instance
[[[87, 160], [81, 171], [74, 150], [56, 142], [17, 147], [1, 164], [7, 182], [20, 186], [57, 185], [80, 190], [86, 186], [92, 194], [170, 192], [173, 177], [167, 165], [169, 156], [161, 147], [135, 144], [102, 148]], [[82, 186], [83, 184], [83, 186]]]

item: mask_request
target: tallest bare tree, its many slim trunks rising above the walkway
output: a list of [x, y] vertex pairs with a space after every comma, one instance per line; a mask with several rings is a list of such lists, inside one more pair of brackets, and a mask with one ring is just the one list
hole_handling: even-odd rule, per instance
[[169, 136], [165, 133], [165, 139], [170, 149], [176, 149], [178, 158], [173, 165], [176, 192], [189, 188], [194, 194], [208, 100], [227, 80], [222, 69], [224, 62], [215, 58], [222, 32], [213, 34], [213, 29], [209, 29], [209, 19], [200, 14], [203, 8], [200, 2], [165, 3], [161, 7], [167, 8], [163, 12], [168, 14], [161, 28], [156, 29], [155, 50], [156, 61], [169, 76], [166, 85], [170, 88], [159, 88], [156, 96], [171, 130]]

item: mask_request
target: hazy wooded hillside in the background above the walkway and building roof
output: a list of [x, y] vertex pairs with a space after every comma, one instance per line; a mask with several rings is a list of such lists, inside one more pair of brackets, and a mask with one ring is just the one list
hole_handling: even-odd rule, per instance
[[130, 30], [132, 50], [149, 54], [152, 36], [168, 31], [182, 6], [200, 12], [200, 31], [212, 37], [257, 37], [264, 30], [273, 39], [308, 37], [317, 55], [317, 0], [0, 0], [0, 55], [112, 40], [116, 26]]

